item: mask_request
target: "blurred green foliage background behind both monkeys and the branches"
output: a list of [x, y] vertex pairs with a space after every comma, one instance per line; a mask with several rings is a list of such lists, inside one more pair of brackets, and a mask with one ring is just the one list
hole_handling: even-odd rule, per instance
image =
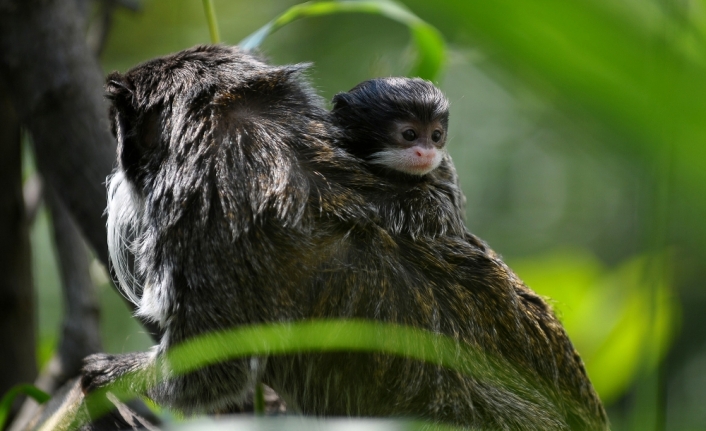
[[[297, 2], [213, 3], [237, 44]], [[436, 83], [469, 229], [551, 298], [614, 430], [706, 429], [706, 1], [402, 3], [447, 43]], [[113, 14], [106, 74], [210, 40], [198, 0], [135, 4]], [[407, 27], [370, 14], [298, 20], [260, 50], [313, 63], [326, 100], [408, 74], [416, 53]], [[40, 366], [62, 316], [48, 220], [31, 233]], [[91, 275], [105, 350], [146, 349], [97, 261]]]

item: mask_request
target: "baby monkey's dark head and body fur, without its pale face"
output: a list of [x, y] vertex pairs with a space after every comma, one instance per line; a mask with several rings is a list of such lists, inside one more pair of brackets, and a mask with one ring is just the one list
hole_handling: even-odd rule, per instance
[[[393, 127], [400, 121], [431, 124], [448, 129], [449, 102], [434, 84], [419, 78], [376, 78], [364, 81], [333, 98], [332, 122], [338, 145], [371, 162], [392, 145]], [[444, 137], [444, 140], [446, 138]], [[439, 167], [423, 176], [397, 172], [365, 163], [377, 181], [365, 190], [366, 198], [390, 232], [413, 237], [463, 235], [466, 199], [458, 186], [451, 158], [440, 150]]]

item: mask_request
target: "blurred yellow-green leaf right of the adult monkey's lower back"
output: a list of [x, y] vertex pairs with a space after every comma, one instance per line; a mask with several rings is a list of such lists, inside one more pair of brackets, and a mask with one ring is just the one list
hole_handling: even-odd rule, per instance
[[[664, 256], [638, 256], [613, 270], [582, 250], [514, 262], [518, 275], [556, 304], [601, 399], [610, 404], [666, 353], [677, 325]], [[656, 262], [659, 260], [660, 262]]]

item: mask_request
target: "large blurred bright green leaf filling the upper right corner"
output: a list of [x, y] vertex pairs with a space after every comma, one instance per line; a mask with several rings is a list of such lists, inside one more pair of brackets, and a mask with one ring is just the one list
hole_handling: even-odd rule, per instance
[[[687, 50], [699, 52], [695, 58], [666, 18], [641, 26], [595, 0], [408, 4], [444, 22], [447, 31], [472, 36], [459, 41], [482, 47], [536, 88], [553, 89], [558, 99], [630, 137], [618, 143], [623, 149], [660, 163], [662, 147], [674, 148], [679, 177], [692, 191], [706, 183], [703, 38], [690, 38], [700, 41]], [[685, 31], [700, 34], [703, 25]], [[706, 200], [696, 199], [688, 210], [702, 216]]]

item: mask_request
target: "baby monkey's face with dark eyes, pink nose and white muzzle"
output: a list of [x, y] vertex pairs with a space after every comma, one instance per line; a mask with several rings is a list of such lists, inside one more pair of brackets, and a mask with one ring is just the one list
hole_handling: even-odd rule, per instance
[[371, 154], [370, 163], [410, 175], [425, 175], [441, 163], [446, 130], [440, 120], [394, 121], [387, 145]]

